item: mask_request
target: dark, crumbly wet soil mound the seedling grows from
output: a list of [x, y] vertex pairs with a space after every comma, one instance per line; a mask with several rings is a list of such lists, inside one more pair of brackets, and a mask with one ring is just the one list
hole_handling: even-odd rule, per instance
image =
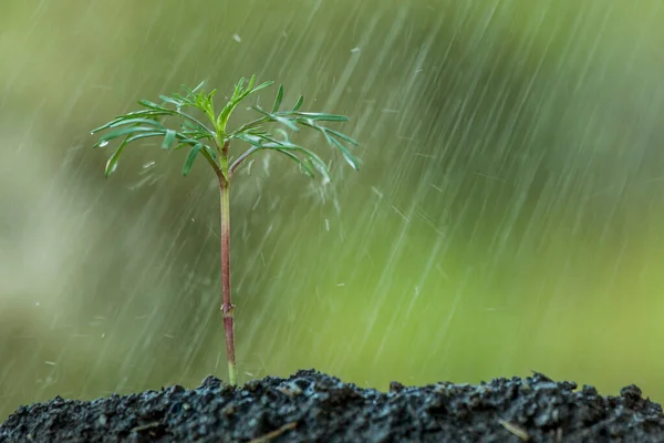
[[620, 396], [535, 373], [479, 385], [390, 392], [299, 371], [234, 389], [208, 377], [93, 401], [19, 408], [0, 442], [664, 442], [662, 406], [634, 385]]

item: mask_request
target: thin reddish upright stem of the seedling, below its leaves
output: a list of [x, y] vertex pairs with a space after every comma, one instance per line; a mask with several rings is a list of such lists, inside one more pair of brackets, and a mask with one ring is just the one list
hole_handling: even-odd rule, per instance
[[219, 177], [221, 203], [221, 311], [224, 312], [224, 331], [226, 333], [226, 356], [228, 358], [228, 382], [238, 383], [238, 370], [235, 359], [235, 305], [230, 302], [230, 186], [229, 182]]

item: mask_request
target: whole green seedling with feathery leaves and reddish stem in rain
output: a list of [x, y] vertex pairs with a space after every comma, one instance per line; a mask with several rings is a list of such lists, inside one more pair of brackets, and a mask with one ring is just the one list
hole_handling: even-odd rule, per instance
[[[144, 109], [116, 116], [113, 121], [92, 131], [112, 130], [101, 136], [94, 147], [104, 147], [110, 142], [121, 138], [122, 142], [106, 163], [105, 174], [108, 176], [117, 167], [117, 161], [124, 148], [132, 142], [149, 137], [162, 137], [162, 148], [179, 150], [188, 147], [189, 152], [183, 165], [183, 175], [187, 175], [199, 156], [215, 172], [219, 182], [220, 197], [220, 246], [221, 246], [221, 311], [224, 312], [224, 329], [226, 333], [226, 354], [228, 357], [228, 378], [230, 384], [237, 384], [237, 365], [235, 358], [235, 332], [234, 310], [235, 305], [230, 298], [230, 182], [237, 168], [252, 154], [270, 150], [284, 154], [297, 162], [300, 169], [313, 177], [317, 173], [330, 179], [328, 165], [312, 151], [291, 142], [287, 130], [299, 131], [300, 127], [318, 131], [328, 144], [339, 151], [343, 158], [355, 169], [359, 169], [357, 159], [350, 153], [344, 142], [357, 145], [347, 135], [321, 126], [321, 122], [345, 122], [347, 117], [336, 114], [302, 112], [300, 106], [304, 97], [300, 95], [291, 110], [280, 111], [283, 99], [283, 86], [279, 86], [277, 97], [271, 111], [260, 106], [253, 106], [260, 116], [248, 123], [241, 124], [235, 130], [228, 130], [228, 121], [236, 107], [249, 95], [272, 85], [274, 82], [264, 82], [255, 86], [256, 75], [252, 75], [245, 86], [245, 78], [237, 83], [232, 96], [226, 105], [217, 113], [215, 111], [214, 96], [217, 90], [206, 92], [201, 82], [198, 86], [189, 89], [183, 85], [185, 94], [174, 93], [160, 95], [162, 104], [141, 100]], [[195, 116], [185, 110], [191, 109], [203, 114]], [[179, 120], [177, 128], [167, 127], [163, 124], [166, 117]], [[204, 121], [207, 120], [206, 123]], [[274, 128], [273, 133], [267, 130], [268, 125], [277, 124], [282, 127]], [[241, 141], [249, 144], [249, 148], [232, 158], [230, 143]]]

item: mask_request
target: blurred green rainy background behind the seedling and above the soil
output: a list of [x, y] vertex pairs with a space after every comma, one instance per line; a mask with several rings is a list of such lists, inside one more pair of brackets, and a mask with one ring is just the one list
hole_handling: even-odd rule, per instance
[[153, 142], [105, 179], [90, 131], [252, 73], [349, 115], [363, 168], [237, 176], [242, 382], [537, 370], [664, 400], [662, 22], [657, 0], [6, 0], [0, 420], [226, 378], [214, 176]]

